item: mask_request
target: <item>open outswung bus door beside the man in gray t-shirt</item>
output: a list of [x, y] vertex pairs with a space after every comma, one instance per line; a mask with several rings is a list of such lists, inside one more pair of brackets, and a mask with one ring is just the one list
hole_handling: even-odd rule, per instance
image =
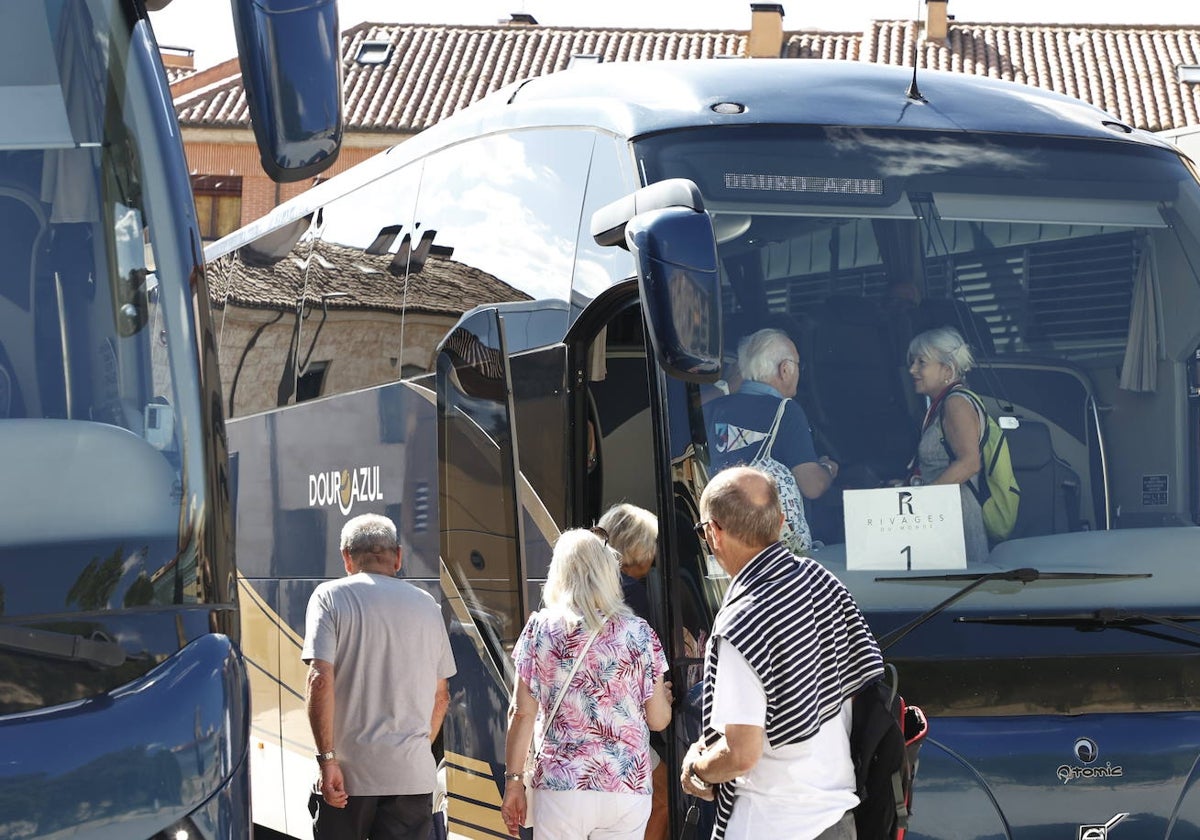
[[504, 324], [466, 314], [438, 348], [442, 589], [458, 672], [443, 728], [451, 834], [504, 834], [504, 720], [512, 646], [528, 614]]

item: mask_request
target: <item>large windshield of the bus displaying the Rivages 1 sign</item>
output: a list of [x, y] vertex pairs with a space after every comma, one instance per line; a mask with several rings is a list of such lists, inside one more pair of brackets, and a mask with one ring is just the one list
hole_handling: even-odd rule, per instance
[[[950, 326], [971, 348], [966, 383], [1006, 430], [1020, 482], [1012, 535], [961, 571], [1147, 572], [1122, 584], [1121, 605], [1109, 590], [1080, 596], [1079, 583], [1019, 586], [1019, 598], [998, 600], [989, 593], [1003, 588], [984, 586], [955, 613], [1176, 605], [1187, 572], [1177, 559], [1196, 548], [1200, 188], [1175, 152], [1120, 139], [757, 126], [662, 133], [637, 155], [648, 184], [700, 187], [718, 242], [724, 376], [672, 385], [672, 457], [701, 468], [677, 475], [724, 466], [712, 407], [743, 386], [739, 341], [786, 332], [815, 454], [840, 469], [804, 503], [814, 556], [887, 634], [953, 584], [856, 571], [847, 532], [860, 524], [847, 524], [845, 493], [917, 484], [929, 402], [914, 390], [910, 342]], [[1076, 649], [1070, 632], [1064, 649]], [[904, 644], [944, 647], [928, 635]]]

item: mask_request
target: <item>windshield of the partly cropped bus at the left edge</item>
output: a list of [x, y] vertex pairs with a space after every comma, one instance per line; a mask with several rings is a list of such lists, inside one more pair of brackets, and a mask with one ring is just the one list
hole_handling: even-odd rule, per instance
[[[178, 648], [149, 618], [106, 618], [199, 598], [187, 475], [202, 473], [179, 428], [198, 397], [176, 388], [196, 377], [191, 265], [163, 192], [161, 144], [178, 138], [156, 127], [162, 71], [116, 0], [16, 5], [0, 40], [0, 452], [24, 476], [0, 511], [0, 616], [121, 636], [131, 656], [152, 637]], [[29, 654], [17, 707], [103, 688], [95, 664], [43, 683]], [[42, 694], [52, 682], [65, 694]]]

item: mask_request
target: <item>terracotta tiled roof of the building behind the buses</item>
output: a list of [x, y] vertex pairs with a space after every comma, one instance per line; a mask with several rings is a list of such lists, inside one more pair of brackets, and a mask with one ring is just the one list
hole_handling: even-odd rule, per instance
[[[918, 37], [923, 67], [1067, 94], [1150, 131], [1200, 122], [1200, 84], [1176, 79], [1178, 65], [1200, 65], [1200, 26], [950, 22], [946, 40], [932, 42], [917, 22], [878, 20], [862, 35], [786, 32], [781, 55], [912, 66]], [[740, 56], [745, 43], [744, 31], [364, 23], [342, 35], [346, 128], [420, 131], [503, 85], [564, 70], [576, 55], [606, 62]], [[364, 47], [380, 62], [360, 64]], [[185, 126], [247, 125], [235, 65], [220, 76], [204, 86], [192, 77], [188, 92], [173, 86]]]

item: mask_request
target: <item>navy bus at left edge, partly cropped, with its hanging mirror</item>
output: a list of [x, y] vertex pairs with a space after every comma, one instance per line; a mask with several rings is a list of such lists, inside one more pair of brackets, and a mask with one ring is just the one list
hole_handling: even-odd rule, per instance
[[[332, 2], [234, 6], [264, 163], [319, 172]], [[224, 419], [158, 48], [142, 0], [0, 20], [0, 836], [244, 840]]]

